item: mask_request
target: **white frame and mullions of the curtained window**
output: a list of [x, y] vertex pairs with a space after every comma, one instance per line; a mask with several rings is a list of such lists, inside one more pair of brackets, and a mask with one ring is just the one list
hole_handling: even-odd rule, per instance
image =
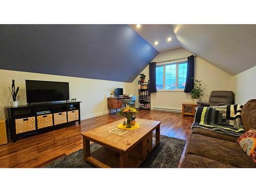
[[[183, 60], [183, 61], [179, 61], [179, 62], [166, 62], [166, 63], [163, 63], [161, 65], [157, 65], [156, 67], [163, 67], [163, 88], [164, 89], [157, 89], [157, 92], [184, 92], [184, 89], [177, 89], [178, 88], [178, 85], [179, 85], [179, 65], [180, 64], [183, 64], [183, 63], [187, 63], [187, 60]], [[168, 65], [176, 65], [176, 84], [175, 84], [175, 87], [176, 89], [175, 90], [165, 90], [165, 66], [168, 66]]]

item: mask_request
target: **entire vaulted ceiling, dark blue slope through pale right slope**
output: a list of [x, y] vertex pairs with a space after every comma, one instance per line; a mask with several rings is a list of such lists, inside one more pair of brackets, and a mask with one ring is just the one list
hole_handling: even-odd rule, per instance
[[255, 45], [256, 25], [0, 25], [0, 69], [132, 82], [184, 48], [234, 75], [255, 66]]

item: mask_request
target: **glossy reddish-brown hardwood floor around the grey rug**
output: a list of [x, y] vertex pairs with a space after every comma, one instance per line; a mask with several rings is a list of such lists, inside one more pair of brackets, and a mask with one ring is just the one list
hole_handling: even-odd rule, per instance
[[[138, 118], [161, 121], [161, 135], [187, 139], [193, 116], [141, 110]], [[82, 148], [81, 132], [121, 119], [116, 114], [102, 115], [52, 132], [9, 142], [0, 146], [0, 167], [42, 167]], [[182, 155], [183, 158], [184, 154]]]

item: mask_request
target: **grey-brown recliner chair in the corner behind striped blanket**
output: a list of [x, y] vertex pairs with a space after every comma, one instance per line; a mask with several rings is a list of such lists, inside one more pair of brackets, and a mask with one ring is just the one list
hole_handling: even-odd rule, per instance
[[209, 102], [197, 101], [197, 106], [220, 106], [234, 104], [234, 93], [232, 91], [212, 91]]

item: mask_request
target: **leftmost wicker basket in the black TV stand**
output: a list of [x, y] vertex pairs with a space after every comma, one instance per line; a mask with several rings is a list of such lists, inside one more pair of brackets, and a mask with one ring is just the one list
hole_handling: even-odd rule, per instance
[[35, 130], [35, 117], [15, 119], [16, 134]]

